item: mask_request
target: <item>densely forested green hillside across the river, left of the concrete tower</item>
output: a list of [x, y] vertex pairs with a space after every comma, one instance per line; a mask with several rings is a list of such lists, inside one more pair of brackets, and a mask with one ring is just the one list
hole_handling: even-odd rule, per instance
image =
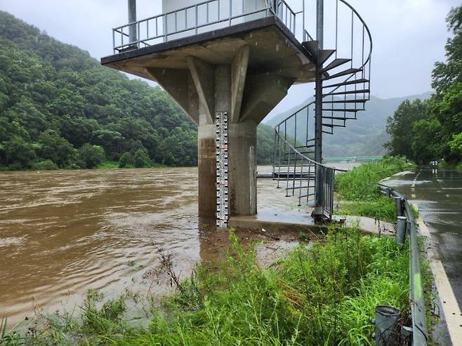
[[[0, 23], [0, 169], [197, 165], [197, 126], [161, 88], [9, 13]], [[268, 128], [258, 133], [269, 163]]]

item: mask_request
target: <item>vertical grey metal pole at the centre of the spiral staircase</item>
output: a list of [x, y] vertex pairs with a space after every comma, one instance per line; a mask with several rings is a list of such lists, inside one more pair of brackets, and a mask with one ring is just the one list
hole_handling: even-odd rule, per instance
[[[316, 1], [316, 39], [318, 43], [318, 56], [316, 61], [316, 80], [315, 80], [315, 161], [322, 164], [322, 62], [319, 52], [323, 48], [324, 38], [324, 0]], [[313, 218], [319, 220], [324, 215], [322, 206], [324, 205], [324, 195], [322, 185], [324, 174], [322, 167], [317, 166], [315, 175], [315, 210]]]

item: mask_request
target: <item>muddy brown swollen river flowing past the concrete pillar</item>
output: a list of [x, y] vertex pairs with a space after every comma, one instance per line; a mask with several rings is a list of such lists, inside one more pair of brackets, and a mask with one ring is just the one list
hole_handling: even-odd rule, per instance
[[[199, 232], [197, 168], [3, 172], [0, 187], [0, 318], [9, 326], [72, 309], [88, 289], [152, 289], [143, 277], [156, 248], [188, 274], [223, 247]], [[260, 211], [296, 206], [284, 195], [258, 180]]]

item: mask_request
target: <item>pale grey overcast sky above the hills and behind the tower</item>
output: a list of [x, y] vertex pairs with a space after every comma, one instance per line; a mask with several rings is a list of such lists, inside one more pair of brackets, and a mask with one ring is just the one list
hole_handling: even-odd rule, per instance
[[[291, 0], [296, 7], [301, 0]], [[306, 0], [313, 2], [315, 0]], [[327, 1], [327, 0], [326, 0]], [[0, 10], [74, 44], [100, 59], [112, 53], [112, 27], [127, 22], [126, 0], [0, 0]], [[372, 94], [402, 97], [430, 91], [435, 61], [444, 60], [449, 37], [444, 19], [461, 0], [350, 0], [371, 29]], [[161, 0], [138, 0], [138, 19], [161, 13]], [[326, 47], [327, 48], [327, 47]], [[312, 94], [295, 86], [275, 111]]]

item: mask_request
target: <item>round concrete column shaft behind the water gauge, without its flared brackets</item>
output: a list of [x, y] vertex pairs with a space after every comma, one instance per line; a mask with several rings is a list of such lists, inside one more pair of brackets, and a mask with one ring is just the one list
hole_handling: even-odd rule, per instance
[[[212, 122], [216, 112], [228, 114], [229, 214], [255, 215], [257, 124], [251, 120], [232, 122], [230, 65], [215, 66], [213, 81], [204, 80], [202, 84], [205, 83], [209, 84], [209, 88], [213, 85], [213, 100], [203, 97], [199, 105], [199, 218], [202, 222], [214, 222], [216, 219], [216, 125]], [[197, 86], [199, 84], [197, 81]], [[213, 114], [210, 114], [212, 107]]]

